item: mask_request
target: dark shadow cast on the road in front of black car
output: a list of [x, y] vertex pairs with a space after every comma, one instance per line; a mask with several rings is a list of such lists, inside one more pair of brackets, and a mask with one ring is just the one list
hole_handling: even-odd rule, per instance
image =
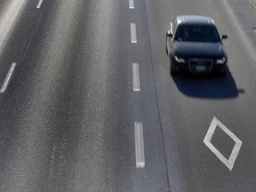
[[172, 79], [180, 92], [190, 97], [228, 99], [237, 97], [239, 93], [244, 93], [244, 90], [237, 89], [229, 70], [227, 70], [226, 76], [178, 74], [172, 75]]

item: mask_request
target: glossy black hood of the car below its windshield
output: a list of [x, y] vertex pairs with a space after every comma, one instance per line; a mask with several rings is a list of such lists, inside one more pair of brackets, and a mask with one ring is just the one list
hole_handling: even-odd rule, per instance
[[226, 57], [225, 48], [221, 43], [178, 42], [172, 44], [172, 52], [183, 58], [220, 58]]

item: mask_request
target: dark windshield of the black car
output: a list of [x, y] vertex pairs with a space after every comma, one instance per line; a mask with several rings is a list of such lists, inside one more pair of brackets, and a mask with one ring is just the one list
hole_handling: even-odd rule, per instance
[[220, 36], [214, 26], [180, 25], [175, 40], [179, 42], [220, 42]]

